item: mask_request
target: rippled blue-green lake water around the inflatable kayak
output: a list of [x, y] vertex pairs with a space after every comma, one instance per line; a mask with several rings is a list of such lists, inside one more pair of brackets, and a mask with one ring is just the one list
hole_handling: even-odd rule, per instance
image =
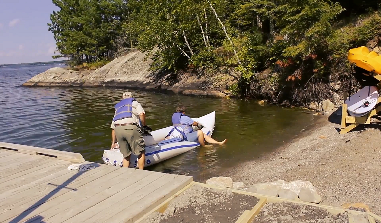
[[[57, 66], [57, 65], [54, 65]], [[81, 153], [87, 161], [102, 163], [111, 144], [113, 106], [122, 88], [20, 87], [48, 65], [0, 67], [0, 141]], [[196, 148], [148, 167], [149, 170], [188, 174], [195, 180], [216, 176], [244, 161], [258, 159], [290, 140], [313, 119], [305, 111], [255, 102], [132, 91], [153, 130], [171, 125], [178, 103], [187, 114], [200, 117], [216, 111], [213, 138], [226, 145]]]

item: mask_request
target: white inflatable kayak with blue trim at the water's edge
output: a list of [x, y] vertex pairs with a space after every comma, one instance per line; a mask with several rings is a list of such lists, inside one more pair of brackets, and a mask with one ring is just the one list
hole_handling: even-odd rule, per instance
[[[199, 122], [203, 128], [201, 129], [206, 135], [211, 136], [214, 130], [214, 123], [216, 120], [216, 112], [213, 111], [210, 114], [199, 118], [192, 118], [194, 121]], [[191, 149], [194, 149], [200, 144], [198, 142], [169, 142], [165, 143], [165, 137], [168, 135], [173, 127], [169, 126], [166, 128], [158, 129], [151, 132], [152, 136], [144, 136], [145, 141], [145, 167], [153, 164], [157, 164], [161, 161], [167, 160], [169, 158], [175, 157]], [[197, 127], [193, 126], [194, 130], [198, 130]], [[131, 155], [130, 160], [131, 168], [138, 168], [138, 157]]]

